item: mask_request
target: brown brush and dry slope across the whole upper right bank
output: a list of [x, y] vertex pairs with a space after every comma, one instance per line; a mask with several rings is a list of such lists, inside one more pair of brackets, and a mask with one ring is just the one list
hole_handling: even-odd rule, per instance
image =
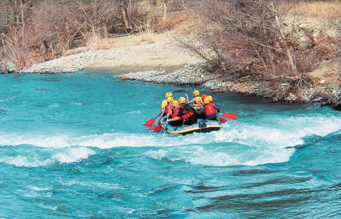
[[[284, 99], [315, 83], [306, 74], [314, 63], [340, 55], [340, 31], [330, 35], [325, 26], [304, 27], [299, 6], [281, 0], [206, 0], [191, 9], [205, 19], [193, 41], [183, 43], [208, 61], [211, 72], [271, 81], [277, 88], [273, 99]], [[338, 30], [339, 22], [331, 21], [328, 30]]]

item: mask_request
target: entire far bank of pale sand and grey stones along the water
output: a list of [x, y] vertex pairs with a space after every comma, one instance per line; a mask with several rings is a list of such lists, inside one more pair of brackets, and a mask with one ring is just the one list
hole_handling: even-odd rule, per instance
[[[337, 109], [340, 108], [340, 83], [329, 86], [321, 80], [312, 88], [301, 89], [296, 94], [289, 93], [281, 99], [276, 97], [277, 91], [270, 81], [231, 80], [223, 75], [208, 73], [202, 59], [194, 58], [189, 51], [179, 46], [174, 40], [165, 41], [162, 36], [160, 39], [160, 43], [116, 45], [115, 49], [90, 50], [64, 56], [34, 64], [31, 68], [21, 70], [20, 73], [70, 73], [83, 69], [88, 70], [89, 66], [95, 66], [90, 70], [109, 73], [130, 72], [115, 75], [122, 80], [140, 80], [181, 86], [194, 85], [214, 92], [256, 95], [273, 101], [321, 102], [336, 106]], [[286, 86], [289, 84], [280, 84], [280, 88]]]

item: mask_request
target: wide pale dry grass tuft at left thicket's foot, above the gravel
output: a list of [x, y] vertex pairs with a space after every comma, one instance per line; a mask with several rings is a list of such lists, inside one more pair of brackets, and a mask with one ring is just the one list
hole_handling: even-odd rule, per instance
[[106, 29], [103, 31], [93, 30], [90, 34], [88, 34], [85, 40], [86, 47], [89, 50], [107, 50], [110, 46], [110, 39]]

